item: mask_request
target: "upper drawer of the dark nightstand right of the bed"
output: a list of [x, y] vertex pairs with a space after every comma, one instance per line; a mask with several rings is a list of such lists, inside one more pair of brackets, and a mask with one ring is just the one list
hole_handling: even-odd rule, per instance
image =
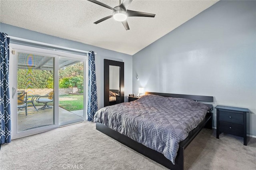
[[237, 123], [243, 125], [243, 114], [220, 111], [220, 121]]

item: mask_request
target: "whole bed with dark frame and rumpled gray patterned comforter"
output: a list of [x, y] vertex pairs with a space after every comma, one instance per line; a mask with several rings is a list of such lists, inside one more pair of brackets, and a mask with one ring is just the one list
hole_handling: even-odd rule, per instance
[[213, 97], [146, 92], [137, 101], [100, 109], [94, 122], [97, 130], [163, 166], [183, 169], [184, 149], [203, 127], [212, 127], [212, 105], [195, 101]]

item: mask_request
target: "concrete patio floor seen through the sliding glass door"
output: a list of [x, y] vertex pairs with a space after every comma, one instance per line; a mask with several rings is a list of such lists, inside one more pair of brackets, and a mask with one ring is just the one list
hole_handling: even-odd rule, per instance
[[[37, 108], [40, 107], [42, 106], [37, 106]], [[59, 107], [59, 124], [83, 117], [83, 110], [72, 112]], [[18, 132], [53, 125], [53, 109], [47, 108], [36, 111], [33, 106], [29, 106], [27, 113], [28, 115], [26, 116], [25, 109], [18, 110]]]

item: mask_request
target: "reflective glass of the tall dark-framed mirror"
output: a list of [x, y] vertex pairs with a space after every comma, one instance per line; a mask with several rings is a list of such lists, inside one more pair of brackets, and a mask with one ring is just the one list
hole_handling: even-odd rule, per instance
[[109, 104], [120, 103], [120, 67], [109, 66]]

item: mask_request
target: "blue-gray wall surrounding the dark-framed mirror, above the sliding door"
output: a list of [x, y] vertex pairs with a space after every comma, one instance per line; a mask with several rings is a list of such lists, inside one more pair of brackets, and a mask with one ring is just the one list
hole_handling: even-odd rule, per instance
[[9, 36], [14, 36], [18, 38], [96, 52], [97, 54], [95, 55], [95, 62], [99, 109], [104, 107], [104, 59], [124, 62], [124, 99], [125, 101], [128, 101], [126, 96], [132, 93], [132, 55], [119, 53], [116, 51], [111, 51], [108, 49], [103, 49], [100, 47], [74, 42], [54, 36], [49, 36], [46, 34], [26, 30], [3, 23], [0, 23], [0, 31], [7, 33]]

